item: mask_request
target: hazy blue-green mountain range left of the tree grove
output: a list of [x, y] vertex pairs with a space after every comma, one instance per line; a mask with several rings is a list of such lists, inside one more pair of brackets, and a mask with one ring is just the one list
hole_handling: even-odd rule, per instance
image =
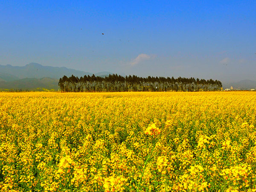
[[[111, 72], [95, 73], [95, 76], [105, 77]], [[68, 69], [66, 67], [43, 66], [38, 63], [30, 63], [23, 67], [12, 65], [0, 65], [0, 90], [58, 90], [58, 81], [63, 76], [92, 76], [79, 70]]]

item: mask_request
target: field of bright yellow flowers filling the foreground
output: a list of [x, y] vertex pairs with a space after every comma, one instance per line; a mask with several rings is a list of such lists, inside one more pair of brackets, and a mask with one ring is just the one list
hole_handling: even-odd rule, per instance
[[0, 192], [254, 192], [255, 126], [255, 92], [0, 93]]

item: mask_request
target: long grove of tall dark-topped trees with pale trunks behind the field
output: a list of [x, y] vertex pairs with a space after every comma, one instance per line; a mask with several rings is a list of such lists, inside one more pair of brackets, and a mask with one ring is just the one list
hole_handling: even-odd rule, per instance
[[121, 92], [121, 91], [218, 91], [222, 84], [218, 80], [178, 77], [118, 76], [63, 76], [58, 83], [62, 92]]

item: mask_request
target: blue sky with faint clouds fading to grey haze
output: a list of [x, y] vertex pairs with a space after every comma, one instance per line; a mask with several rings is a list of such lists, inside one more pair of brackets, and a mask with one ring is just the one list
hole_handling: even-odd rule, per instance
[[256, 1], [1, 0], [0, 64], [31, 62], [256, 80]]

